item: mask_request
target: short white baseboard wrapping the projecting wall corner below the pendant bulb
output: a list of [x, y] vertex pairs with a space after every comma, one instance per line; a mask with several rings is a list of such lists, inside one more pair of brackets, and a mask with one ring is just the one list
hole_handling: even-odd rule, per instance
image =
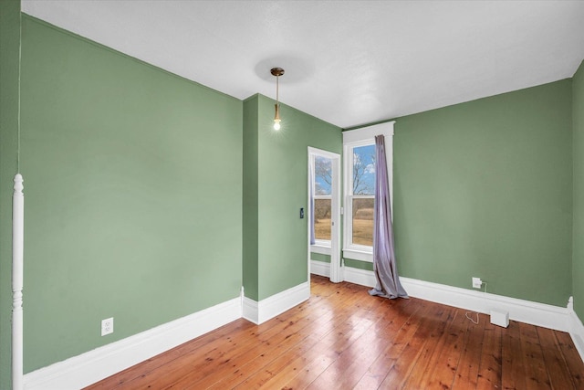
[[245, 320], [259, 325], [284, 311], [292, 309], [297, 304], [308, 300], [308, 298], [310, 298], [308, 281], [298, 284], [291, 289], [278, 292], [276, 295], [272, 295], [259, 302], [244, 297], [242, 305], [243, 317]]

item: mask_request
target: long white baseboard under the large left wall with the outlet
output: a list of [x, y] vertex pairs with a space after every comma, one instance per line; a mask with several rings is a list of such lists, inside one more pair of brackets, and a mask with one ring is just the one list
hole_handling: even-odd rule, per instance
[[25, 375], [26, 390], [79, 389], [242, 317], [235, 298]]

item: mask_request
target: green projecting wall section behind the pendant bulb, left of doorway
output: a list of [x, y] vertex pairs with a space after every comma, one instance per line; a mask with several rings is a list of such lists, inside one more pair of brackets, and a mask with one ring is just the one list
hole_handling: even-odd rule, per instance
[[247, 173], [245, 166], [244, 176], [257, 176], [257, 188], [249, 193], [245, 190], [244, 204], [255, 202], [256, 191], [257, 222], [255, 225], [252, 217], [244, 226], [257, 228], [257, 232], [245, 232], [257, 237], [257, 255], [252, 258], [255, 242], [245, 243], [250, 251], [245, 251], [244, 257], [250, 258], [244, 260], [244, 275], [248, 275], [247, 268], [249, 273], [257, 272], [257, 287], [248, 288], [255, 276], [245, 276], [244, 287], [245, 296], [263, 300], [308, 279], [308, 219], [299, 217], [300, 208], [308, 207], [308, 146], [341, 153], [342, 134], [339, 127], [284, 104], [280, 107], [282, 128], [276, 132], [272, 128], [274, 100], [262, 95], [245, 100], [245, 115], [254, 110], [257, 123], [245, 120], [252, 128], [244, 129], [244, 137], [250, 138], [244, 143], [254, 143], [256, 137], [257, 153], [256, 157], [245, 157], [244, 163], [249, 162], [250, 169], [256, 166], [257, 173]]

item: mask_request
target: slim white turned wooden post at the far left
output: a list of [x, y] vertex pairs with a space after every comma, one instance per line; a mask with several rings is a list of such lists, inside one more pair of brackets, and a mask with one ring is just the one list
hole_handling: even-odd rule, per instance
[[21, 174], [15, 176], [12, 196], [12, 388], [23, 388], [23, 309], [25, 195]]

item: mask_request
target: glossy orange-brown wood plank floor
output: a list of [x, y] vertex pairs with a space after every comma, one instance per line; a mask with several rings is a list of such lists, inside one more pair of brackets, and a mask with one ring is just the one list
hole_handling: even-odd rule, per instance
[[[313, 276], [308, 301], [243, 319], [88, 389], [584, 389], [565, 332]], [[469, 316], [476, 320], [476, 313]]]

